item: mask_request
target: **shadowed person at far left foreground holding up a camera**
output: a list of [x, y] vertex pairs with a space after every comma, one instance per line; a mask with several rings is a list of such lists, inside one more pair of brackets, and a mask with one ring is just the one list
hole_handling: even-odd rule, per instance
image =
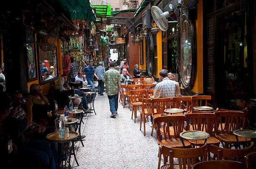
[[[36, 140], [25, 137], [22, 133], [24, 129], [30, 126], [32, 121], [32, 111], [28, 111], [24, 119], [15, 119], [11, 117], [12, 99], [6, 93], [1, 93], [3, 99], [0, 107], [1, 134], [9, 135], [12, 142], [17, 146], [17, 156], [31, 159], [29, 163], [33, 163], [33, 159], [39, 159], [41, 168], [55, 169], [54, 154], [49, 146], [49, 142], [45, 140]], [[31, 109], [32, 102], [28, 99], [27, 109]]]

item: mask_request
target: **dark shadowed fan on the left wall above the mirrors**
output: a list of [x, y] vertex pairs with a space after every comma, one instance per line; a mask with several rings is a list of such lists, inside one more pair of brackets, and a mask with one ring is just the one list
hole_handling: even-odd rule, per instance
[[38, 30], [39, 46], [47, 52], [53, 47], [59, 36], [59, 21], [49, 20]]

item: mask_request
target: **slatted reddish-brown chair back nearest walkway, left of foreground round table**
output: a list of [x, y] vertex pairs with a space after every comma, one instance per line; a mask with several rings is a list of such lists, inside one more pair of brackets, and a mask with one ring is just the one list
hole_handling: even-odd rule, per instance
[[[157, 126], [156, 137], [157, 141], [161, 142], [163, 139], [180, 138], [179, 134], [183, 132], [184, 122], [186, 121], [186, 116], [184, 115], [164, 115], [156, 117], [155, 124]], [[174, 129], [174, 135], [170, 135], [170, 126]], [[163, 133], [160, 129], [163, 128]]]

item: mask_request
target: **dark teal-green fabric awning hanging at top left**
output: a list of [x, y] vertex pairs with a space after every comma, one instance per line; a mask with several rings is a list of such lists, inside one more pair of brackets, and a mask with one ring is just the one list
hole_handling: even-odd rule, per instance
[[96, 20], [95, 13], [89, 0], [49, 0], [63, 10], [70, 20], [84, 19], [89, 23]]

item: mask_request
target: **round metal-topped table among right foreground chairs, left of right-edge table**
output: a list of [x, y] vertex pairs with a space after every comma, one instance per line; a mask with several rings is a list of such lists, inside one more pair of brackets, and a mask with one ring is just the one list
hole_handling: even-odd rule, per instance
[[196, 140], [196, 146], [197, 146], [197, 140], [204, 139], [205, 140], [204, 144], [205, 144], [207, 139], [210, 137], [210, 134], [202, 131], [197, 131], [197, 130], [189, 130], [186, 132], [181, 132], [179, 136], [182, 141], [183, 147], [186, 148], [183, 142], [183, 139]]

